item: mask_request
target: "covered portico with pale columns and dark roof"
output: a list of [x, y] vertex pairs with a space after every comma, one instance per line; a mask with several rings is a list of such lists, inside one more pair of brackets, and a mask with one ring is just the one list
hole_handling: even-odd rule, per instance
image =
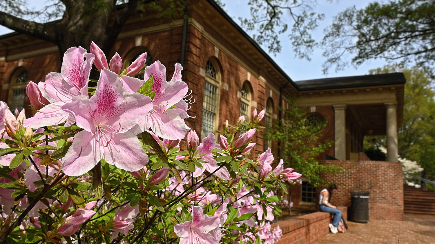
[[[326, 138], [334, 140], [339, 160], [358, 160], [367, 135], [387, 136], [387, 161], [397, 162], [397, 130], [402, 124], [403, 73], [297, 81], [301, 107], [321, 113], [333, 124]], [[324, 137], [328, 137], [325, 135]]]

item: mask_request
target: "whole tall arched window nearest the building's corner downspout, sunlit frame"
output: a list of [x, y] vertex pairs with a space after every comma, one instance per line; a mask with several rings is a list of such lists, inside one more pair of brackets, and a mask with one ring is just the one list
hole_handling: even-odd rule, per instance
[[218, 129], [219, 87], [221, 76], [216, 61], [209, 59], [205, 66], [204, 99], [202, 102], [201, 137]]

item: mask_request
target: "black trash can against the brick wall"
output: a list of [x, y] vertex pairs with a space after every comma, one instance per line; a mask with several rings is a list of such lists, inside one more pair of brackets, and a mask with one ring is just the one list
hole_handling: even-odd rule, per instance
[[368, 195], [370, 192], [351, 191], [351, 207], [348, 219], [354, 222], [368, 222]]

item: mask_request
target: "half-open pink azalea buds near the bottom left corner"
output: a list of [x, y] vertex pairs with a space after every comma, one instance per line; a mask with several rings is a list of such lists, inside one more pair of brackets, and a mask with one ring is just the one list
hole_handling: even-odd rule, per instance
[[90, 217], [94, 216], [95, 211], [90, 209], [94, 208], [97, 201], [93, 201], [86, 204], [86, 208], [79, 208], [72, 215], [66, 218], [59, 228], [57, 228], [57, 234], [63, 236], [70, 236], [74, 234], [78, 229], [80, 224], [83, 224]]

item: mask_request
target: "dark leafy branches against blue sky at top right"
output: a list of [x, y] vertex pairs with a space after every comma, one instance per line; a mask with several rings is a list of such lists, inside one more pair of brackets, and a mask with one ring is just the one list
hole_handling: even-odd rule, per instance
[[[341, 70], [351, 63], [361, 65], [370, 59], [403, 63], [415, 61], [420, 67], [433, 67], [435, 61], [435, 0], [395, 0], [370, 3], [338, 14], [325, 29], [326, 73], [331, 66]], [[427, 72], [432, 71], [430, 68]]]

